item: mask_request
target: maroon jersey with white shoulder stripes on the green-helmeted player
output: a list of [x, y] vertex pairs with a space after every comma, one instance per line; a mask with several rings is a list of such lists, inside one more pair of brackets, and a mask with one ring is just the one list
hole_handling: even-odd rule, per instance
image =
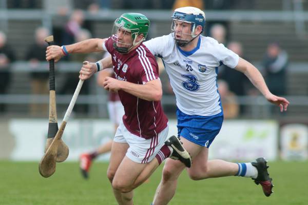
[[[142, 43], [127, 54], [120, 54], [112, 44], [113, 40], [109, 37], [105, 47], [112, 56], [116, 79], [134, 84], [145, 84], [158, 79], [156, 59]], [[118, 93], [125, 111], [123, 122], [130, 133], [148, 139], [167, 127], [168, 119], [160, 101], [144, 100], [123, 90]]]

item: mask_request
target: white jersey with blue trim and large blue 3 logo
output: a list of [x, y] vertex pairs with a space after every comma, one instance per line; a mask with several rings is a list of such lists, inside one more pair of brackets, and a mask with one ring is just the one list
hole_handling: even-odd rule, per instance
[[187, 115], [211, 116], [222, 111], [217, 90], [218, 67], [235, 68], [239, 56], [211, 37], [200, 35], [197, 47], [181, 50], [170, 33], [152, 38], [144, 45], [162, 58], [177, 107]]

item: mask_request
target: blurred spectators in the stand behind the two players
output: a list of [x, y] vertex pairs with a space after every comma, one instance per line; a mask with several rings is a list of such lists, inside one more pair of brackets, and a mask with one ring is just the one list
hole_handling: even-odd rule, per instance
[[[84, 10], [88, 9], [90, 12], [98, 12], [102, 8], [114, 8], [114, 2], [120, 8], [127, 9], [172, 9], [182, 6], [195, 6], [202, 9], [231, 9], [233, 1], [212, 0], [212, 1], [171, 1], [171, 0], [147, 0], [147, 1], [135, 1], [135, 0], [87, 0], [87, 1], [35, 1], [35, 0], [10, 0], [8, 1], [9, 8], [40, 8], [50, 7], [55, 9], [59, 14], [59, 18], [62, 20], [54, 21], [52, 31], [44, 27], [39, 27], [35, 30], [33, 36], [33, 44], [27, 49], [23, 59], [16, 59], [14, 51], [7, 44], [7, 36], [4, 32], [0, 31], [0, 94], [5, 94], [10, 86], [10, 63], [15, 60], [27, 60], [30, 63], [31, 72], [31, 93], [32, 94], [48, 94], [48, 72], [37, 71], [40, 61], [45, 61], [45, 50], [47, 44], [44, 38], [51, 33], [54, 36], [56, 45], [68, 45], [74, 42], [80, 42], [81, 40], [91, 38], [93, 35], [93, 26], [89, 20], [85, 20]], [[239, 1], [245, 2], [245, 1]], [[44, 5], [43, 5], [44, 3]], [[155, 6], [153, 6], [155, 5]], [[243, 5], [245, 5], [243, 3]], [[72, 10], [73, 9], [73, 10]], [[69, 14], [69, 15], [68, 15]], [[67, 17], [68, 16], [68, 17]], [[224, 44], [225, 47], [237, 53], [240, 57], [245, 58], [245, 49], [241, 42], [235, 42], [230, 39], [227, 22], [208, 22], [206, 25], [204, 35], [210, 36], [218, 40], [219, 43]], [[151, 34], [149, 34], [151, 37]], [[104, 36], [108, 37], [108, 36]], [[66, 61], [79, 61], [83, 60], [97, 61], [101, 59], [103, 54], [98, 55], [86, 55], [75, 54], [66, 56], [63, 60]], [[159, 59], [158, 59], [159, 60]], [[249, 59], [248, 59], [249, 60]], [[163, 91], [165, 95], [173, 95], [172, 89], [168, 82], [168, 77], [164, 72], [162, 62], [159, 60], [161, 79], [163, 81]], [[278, 42], [269, 42], [267, 50], [264, 51], [262, 60], [261, 71], [265, 76], [266, 84], [269, 89], [277, 95], [286, 94], [286, 68], [288, 65], [288, 55], [280, 47]], [[66, 73], [66, 81], [64, 85], [57, 90], [59, 94], [72, 94], [75, 90], [76, 84], [78, 84], [79, 73]], [[245, 95], [259, 95], [256, 89], [253, 88], [249, 80], [242, 73], [235, 71], [234, 69], [227, 68], [222, 65], [218, 72], [218, 88], [221, 95], [222, 107], [224, 110], [225, 118], [237, 118], [240, 114], [245, 112], [244, 106], [239, 106], [238, 96]], [[89, 94], [88, 81], [84, 83], [81, 94]], [[39, 113], [46, 112], [47, 105], [36, 105], [34, 102], [30, 105], [30, 111], [33, 116], [39, 115]], [[165, 106], [165, 111], [168, 113], [175, 113], [174, 106]], [[5, 112], [5, 105], [0, 104], [0, 112]], [[88, 107], [86, 105], [78, 105], [75, 111], [86, 113]]]

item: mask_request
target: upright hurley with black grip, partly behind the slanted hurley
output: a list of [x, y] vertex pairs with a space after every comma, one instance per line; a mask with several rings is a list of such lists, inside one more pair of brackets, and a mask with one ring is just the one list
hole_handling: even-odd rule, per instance
[[[45, 42], [49, 46], [54, 45], [53, 36], [48, 36], [45, 38]], [[58, 131], [57, 116], [56, 116], [56, 103], [55, 103], [55, 77], [54, 77], [54, 60], [49, 60], [49, 124], [48, 124], [48, 135], [45, 145], [45, 152], [49, 148], [56, 132]], [[56, 153], [56, 161], [64, 161], [69, 153], [68, 147], [65, 145], [64, 141], [61, 139], [59, 141], [59, 147]]]

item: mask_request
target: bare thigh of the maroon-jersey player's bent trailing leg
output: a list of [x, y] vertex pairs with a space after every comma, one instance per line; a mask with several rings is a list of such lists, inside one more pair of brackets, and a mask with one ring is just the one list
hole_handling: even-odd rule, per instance
[[112, 187], [114, 188], [131, 187], [134, 181], [136, 181], [137, 177], [140, 175], [140, 173], [144, 170], [146, 166], [147, 166], [146, 163], [138, 163], [132, 161], [127, 156], [125, 156], [121, 161], [121, 164], [117, 169], [117, 172], [115, 172], [112, 181]]

